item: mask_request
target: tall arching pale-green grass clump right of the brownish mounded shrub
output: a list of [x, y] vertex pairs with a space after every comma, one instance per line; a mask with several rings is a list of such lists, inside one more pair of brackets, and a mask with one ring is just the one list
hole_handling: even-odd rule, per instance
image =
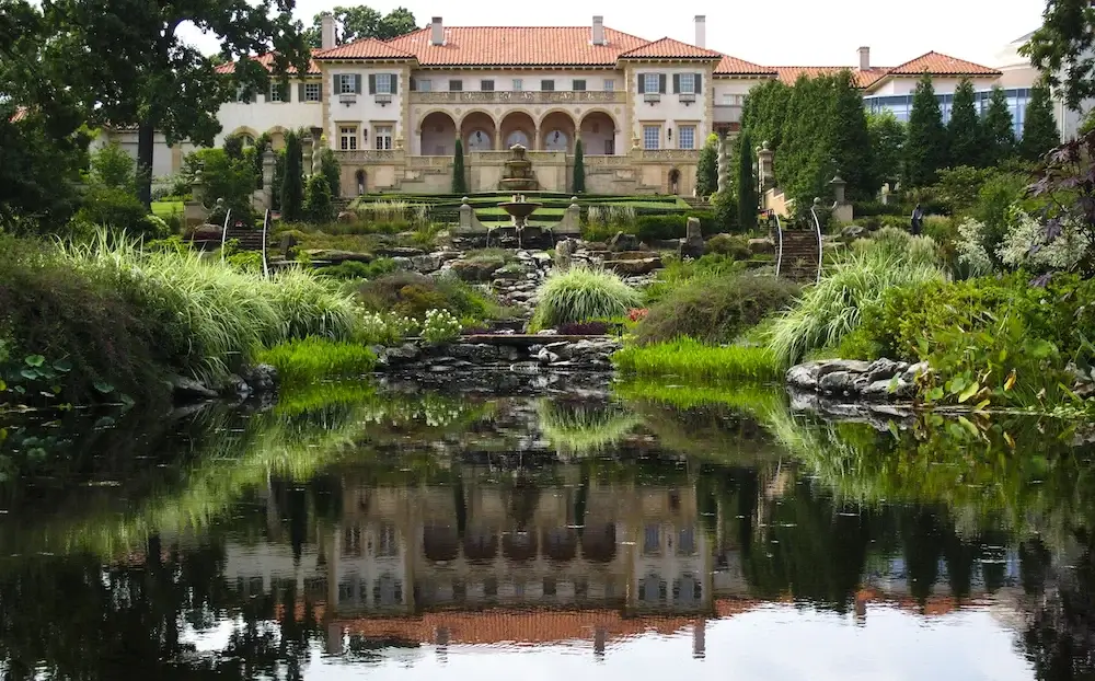
[[877, 303], [887, 289], [943, 276], [935, 266], [856, 252], [838, 262], [805, 290], [795, 307], [775, 318], [768, 334], [771, 347], [785, 363], [798, 361], [810, 350], [835, 347], [860, 325], [863, 309]]

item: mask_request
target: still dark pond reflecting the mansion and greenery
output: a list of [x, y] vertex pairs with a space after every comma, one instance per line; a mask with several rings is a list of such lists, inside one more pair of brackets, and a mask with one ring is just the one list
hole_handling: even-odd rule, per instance
[[4, 679], [1095, 671], [1074, 424], [348, 383], [0, 426]]

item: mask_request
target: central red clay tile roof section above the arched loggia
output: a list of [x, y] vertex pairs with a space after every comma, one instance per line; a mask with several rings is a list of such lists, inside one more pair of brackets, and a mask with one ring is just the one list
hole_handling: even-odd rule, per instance
[[606, 45], [590, 43], [589, 26], [451, 26], [445, 45], [430, 45], [430, 28], [392, 38], [388, 44], [430, 66], [603, 66], [648, 42], [604, 28]]

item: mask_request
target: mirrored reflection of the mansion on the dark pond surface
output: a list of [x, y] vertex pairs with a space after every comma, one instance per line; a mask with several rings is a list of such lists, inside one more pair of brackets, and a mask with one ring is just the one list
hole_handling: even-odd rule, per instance
[[[563, 477], [576, 477], [567, 469]], [[332, 651], [347, 631], [437, 644], [584, 638], [603, 649], [606, 639], [649, 628], [692, 627], [702, 654], [706, 617], [761, 604], [737, 538], [703, 530], [694, 487], [591, 481], [584, 494], [576, 482], [346, 483], [339, 522], [312, 527], [314, 549], [299, 561], [288, 542], [230, 542], [226, 575], [251, 595], [296, 584], [322, 612]], [[280, 532], [267, 504], [270, 531]], [[1006, 582], [1015, 584], [1014, 557], [1006, 563]], [[873, 562], [863, 586], [860, 616], [869, 600], [912, 601], [898, 558]], [[975, 598], [984, 592], [978, 586]], [[927, 614], [955, 608], [945, 591], [943, 576]]]

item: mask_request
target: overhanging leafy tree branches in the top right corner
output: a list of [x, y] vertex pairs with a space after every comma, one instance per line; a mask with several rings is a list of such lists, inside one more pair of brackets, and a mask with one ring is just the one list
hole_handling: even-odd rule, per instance
[[1046, 0], [1041, 16], [1041, 27], [1019, 53], [1049, 85], [1061, 88], [1070, 109], [1080, 111], [1095, 97], [1095, 8], [1088, 0]]

